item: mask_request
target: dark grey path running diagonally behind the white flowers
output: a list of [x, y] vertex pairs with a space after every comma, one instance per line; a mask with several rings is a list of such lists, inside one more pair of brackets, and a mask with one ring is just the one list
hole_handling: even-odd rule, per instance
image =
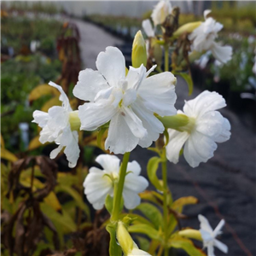
[[[95, 69], [96, 56], [107, 46], [121, 44], [118, 38], [101, 28], [73, 20], [81, 34], [80, 47], [85, 67]], [[188, 96], [187, 86], [182, 79], [177, 81], [177, 109], [183, 100], [194, 98], [201, 91], [196, 89]], [[178, 165], [169, 164], [168, 183], [173, 198], [194, 195], [199, 204], [184, 208], [189, 216], [183, 226], [199, 228], [198, 213], [205, 215], [212, 227], [221, 218], [226, 220], [221, 241], [229, 247], [230, 256], [256, 255], [256, 136], [242, 124], [236, 113], [228, 108], [221, 111], [230, 120], [232, 136], [227, 143], [218, 144], [214, 157], [197, 168], [191, 168], [181, 157]], [[131, 160], [137, 160], [146, 174], [148, 159], [154, 153], [136, 148]], [[216, 249], [216, 254], [224, 255]]]

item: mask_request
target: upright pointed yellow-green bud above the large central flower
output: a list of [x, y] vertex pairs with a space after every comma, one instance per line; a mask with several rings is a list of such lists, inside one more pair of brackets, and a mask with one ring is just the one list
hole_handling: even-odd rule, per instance
[[147, 49], [142, 32], [139, 30], [134, 37], [131, 52], [132, 67], [147, 65]]

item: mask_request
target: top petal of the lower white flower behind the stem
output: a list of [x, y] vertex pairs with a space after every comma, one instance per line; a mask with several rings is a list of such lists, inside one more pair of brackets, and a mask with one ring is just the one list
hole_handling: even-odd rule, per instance
[[96, 157], [96, 162], [99, 163], [107, 172], [119, 173], [120, 160], [115, 155], [100, 154]]

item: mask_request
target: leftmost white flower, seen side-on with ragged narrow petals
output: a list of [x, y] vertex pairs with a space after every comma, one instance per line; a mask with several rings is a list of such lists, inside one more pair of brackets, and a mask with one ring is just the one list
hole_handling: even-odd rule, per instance
[[49, 157], [54, 159], [61, 152], [61, 149], [65, 147], [64, 153], [67, 155], [68, 166], [72, 168], [76, 166], [80, 152], [78, 131], [72, 131], [69, 123], [70, 114], [74, 112], [61, 86], [53, 82], [49, 82], [49, 85], [61, 92], [60, 101], [62, 102], [62, 107], [49, 108], [48, 113], [36, 110], [33, 113], [34, 120], [32, 122], [43, 128], [40, 132], [40, 143], [55, 142], [59, 145], [49, 154]]

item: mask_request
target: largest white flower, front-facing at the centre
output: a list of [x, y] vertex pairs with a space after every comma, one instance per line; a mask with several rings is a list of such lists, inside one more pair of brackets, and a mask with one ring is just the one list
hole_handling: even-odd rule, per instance
[[105, 148], [115, 154], [130, 152], [139, 144], [148, 148], [164, 131], [160, 116], [176, 113], [176, 78], [165, 72], [149, 78], [146, 68], [130, 67], [125, 77], [125, 57], [115, 47], [107, 47], [96, 60], [98, 71], [79, 73], [74, 96], [84, 101], [79, 107], [81, 129], [94, 131], [110, 121]]

